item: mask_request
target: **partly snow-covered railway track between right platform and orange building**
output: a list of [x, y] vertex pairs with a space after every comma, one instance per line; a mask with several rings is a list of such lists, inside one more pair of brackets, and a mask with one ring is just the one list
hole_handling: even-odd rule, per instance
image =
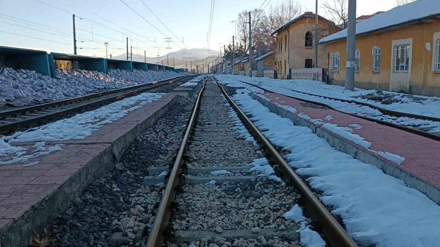
[[[296, 91], [290, 88], [286, 88], [286, 87], [281, 87], [283, 89], [295, 92], [295, 93], [299, 93], [299, 94], [304, 94], [304, 95], [309, 95], [309, 96], [313, 96], [316, 97], [316, 101], [310, 100], [310, 99], [304, 99], [301, 97], [294, 97], [291, 95], [287, 95], [287, 94], [283, 94], [280, 92], [276, 92], [273, 90], [268, 90], [266, 88], [264, 88], [263, 86], [259, 86], [259, 85], [254, 85], [252, 83], [249, 82], [243, 82], [240, 81], [242, 83], [245, 83], [247, 85], [259, 88], [261, 90], [264, 90], [266, 92], [270, 92], [270, 93], [277, 93], [277, 94], [281, 94], [284, 95], [286, 97], [292, 98], [292, 99], [296, 99], [296, 100], [300, 100], [300, 101], [304, 101], [304, 102], [308, 102], [308, 103], [313, 103], [313, 104], [317, 104], [317, 105], [321, 105], [324, 107], [327, 107], [329, 109], [335, 110], [335, 111], [339, 111], [345, 114], [349, 114], [352, 115], [354, 117], [358, 117], [358, 118], [362, 118], [374, 123], [380, 123], [382, 125], [387, 125], [387, 126], [391, 126], [394, 128], [398, 128], [410, 133], [414, 133], [417, 134], [419, 136], [423, 136], [423, 137], [427, 137], [436, 141], [440, 141], [440, 132], [429, 132], [432, 128], [423, 128], [423, 127], [419, 127], [419, 126], [411, 126], [411, 124], [407, 124], [407, 125], [402, 125], [399, 124], [398, 122], [396, 122], [396, 120], [398, 118], [403, 118], [408, 122], [413, 122], [413, 121], [428, 121], [430, 124], [436, 124], [436, 126], [440, 126], [440, 119], [439, 118], [434, 118], [434, 117], [428, 117], [428, 116], [422, 116], [422, 115], [416, 115], [416, 114], [410, 114], [410, 113], [404, 113], [404, 112], [397, 112], [397, 111], [391, 111], [391, 110], [387, 110], [375, 105], [371, 105], [371, 104], [367, 104], [367, 103], [362, 103], [362, 102], [356, 102], [356, 101], [350, 101], [350, 100], [343, 100], [343, 99], [337, 99], [337, 98], [331, 98], [331, 97], [327, 97], [327, 96], [321, 96], [321, 95], [316, 95], [316, 94], [311, 94], [311, 93], [305, 93], [305, 92], [301, 92], [301, 91]], [[327, 103], [322, 103], [319, 101], [319, 99], [327, 99], [333, 102], [341, 102], [341, 103], [347, 103], [347, 104], [352, 104], [352, 105], [358, 105], [359, 107], [368, 107], [374, 110], [377, 110], [378, 112], [380, 112], [380, 115], [370, 115], [370, 114], [363, 114], [362, 112], [348, 112], [348, 111], [344, 111], [344, 110], [340, 110], [337, 107], [333, 107], [330, 104]], [[383, 120], [379, 119], [382, 118]]]

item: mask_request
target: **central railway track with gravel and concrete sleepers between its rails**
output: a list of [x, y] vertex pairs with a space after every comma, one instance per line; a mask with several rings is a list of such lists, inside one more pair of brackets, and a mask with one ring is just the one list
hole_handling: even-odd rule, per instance
[[[270, 175], [269, 162], [287, 185]], [[357, 246], [213, 79], [198, 94], [168, 175], [148, 247], [301, 246], [297, 230], [308, 222], [331, 246]], [[307, 223], [284, 217], [300, 201]]]

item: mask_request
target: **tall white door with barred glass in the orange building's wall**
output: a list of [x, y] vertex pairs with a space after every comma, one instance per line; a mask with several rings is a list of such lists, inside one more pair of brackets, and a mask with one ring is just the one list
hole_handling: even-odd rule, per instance
[[392, 42], [390, 90], [409, 92], [413, 39]]

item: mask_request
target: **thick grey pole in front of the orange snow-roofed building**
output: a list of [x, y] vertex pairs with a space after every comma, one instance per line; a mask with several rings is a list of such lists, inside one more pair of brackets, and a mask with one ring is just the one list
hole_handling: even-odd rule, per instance
[[356, 47], [356, 0], [349, 0], [345, 90], [354, 90], [354, 50]]

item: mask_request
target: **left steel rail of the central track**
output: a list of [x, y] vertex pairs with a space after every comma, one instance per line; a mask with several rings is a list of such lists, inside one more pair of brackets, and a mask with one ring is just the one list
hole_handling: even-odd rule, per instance
[[147, 247], [161, 247], [163, 245], [165, 239], [163, 231], [164, 228], [168, 225], [168, 221], [171, 215], [170, 204], [176, 197], [176, 185], [179, 182], [180, 173], [182, 171], [183, 151], [185, 150], [185, 146], [190, 138], [193, 125], [196, 122], [198, 108], [200, 106], [201, 96], [205, 89], [205, 84], [206, 80], [203, 82], [203, 86], [198, 93], [190, 121], [188, 122], [185, 135], [183, 136], [183, 141], [180, 144], [180, 148], [176, 156], [176, 161], [174, 162], [173, 169], [171, 170], [167, 186], [163, 191], [162, 200], [154, 217], [154, 223], [147, 241]]

